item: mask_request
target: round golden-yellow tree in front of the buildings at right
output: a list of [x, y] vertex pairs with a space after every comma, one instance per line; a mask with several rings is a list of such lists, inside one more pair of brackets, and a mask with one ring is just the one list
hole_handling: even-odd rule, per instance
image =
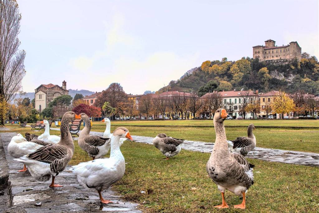
[[280, 118], [283, 118], [284, 113], [290, 113], [295, 110], [295, 104], [286, 92], [279, 91], [274, 96], [271, 108], [274, 113], [280, 114]]

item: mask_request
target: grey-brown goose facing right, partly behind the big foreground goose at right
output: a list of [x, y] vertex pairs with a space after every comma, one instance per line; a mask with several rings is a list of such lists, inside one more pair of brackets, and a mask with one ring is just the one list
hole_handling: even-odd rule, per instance
[[256, 137], [254, 136], [253, 129], [256, 129], [254, 124], [249, 124], [247, 129], [248, 137], [237, 137], [233, 141], [227, 140], [229, 151], [246, 156], [248, 152], [255, 149]]

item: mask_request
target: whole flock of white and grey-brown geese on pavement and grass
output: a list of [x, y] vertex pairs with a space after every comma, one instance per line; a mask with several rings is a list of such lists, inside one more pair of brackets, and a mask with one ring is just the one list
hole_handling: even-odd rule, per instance
[[[216, 208], [228, 208], [224, 197], [225, 190], [242, 196], [243, 201], [235, 208], [245, 209], [245, 193], [254, 183], [252, 168], [246, 156], [256, 146], [256, 138], [253, 134], [253, 124], [248, 127], [247, 137], [237, 137], [233, 141], [226, 139], [224, 121], [227, 117], [225, 109], [218, 109], [214, 114], [214, 128], [216, 141], [211, 156], [206, 164], [206, 170], [213, 182], [218, 186], [222, 195], [222, 204]], [[25, 133], [13, 136], [8, 145], [11, 156], [23, 163], [24, 168], [18, 172], [29, 170], [33, 178], [47, 181], [52, 176], [49, 187], [63, 187], [55, 184], [55, 177], [62, 172], [70, 162], [74, 153], [73, 138], [70, 134], [69, 123], [75, 119], [85, 122], [85, 127], [79, 134], [78, 145], [92, 158], [91, 161], [74, 165], [70, 170], [77, 175], [78, 182], [87, 190], [98, 192], [100, 201], [108, 204], [112, 201], [103, 199], [101, 191], [120, 180], [125, 172], [125, 160], [120, 146], [127, 139], [133, 141], [129, 130], [124, 127], [110, 132], [110, 120], [104, 118], [101, 122], [106, 124], [102, 137], [90, 135], [91, 122], [89, 117], [81, 113], [66, 112], [61, 119], [61, 135], [49, 134], [49, 123], [41, 121], [45, 125], [45, 132], [37, 136]], [[169, 159], [181, 151], [182, 139], [169, 137], [164, 133], [158, 134], [153, 139], [153, 145]], [[101, 158], [110, 150], [109, 158]]]

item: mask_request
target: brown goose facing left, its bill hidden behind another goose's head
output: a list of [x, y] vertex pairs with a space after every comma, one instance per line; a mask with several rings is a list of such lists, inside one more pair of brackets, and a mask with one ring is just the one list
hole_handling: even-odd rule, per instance
[[81, 113], [80, 116], [85, 122], [85, 127], [79, 134], [79, 146], [89, 154], [92, 160], [103, 157], [110, 149], [110, 138], [90, 135], [91, 121], [89, 116], [85, 113]]

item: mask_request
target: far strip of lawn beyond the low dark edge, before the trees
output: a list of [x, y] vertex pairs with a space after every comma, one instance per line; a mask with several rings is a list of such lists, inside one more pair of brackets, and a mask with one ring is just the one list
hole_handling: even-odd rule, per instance
[[[283, 127], [319, 127], [319, 120], [226, 120], [225, 126], [283, 126]], [[93, 125], [103, 123], [94, 121]], [[112, 125], [178, 125], [178, 126], [214, 126], [212, 120], [166, 120], [166, 121], [112, 121]]]

